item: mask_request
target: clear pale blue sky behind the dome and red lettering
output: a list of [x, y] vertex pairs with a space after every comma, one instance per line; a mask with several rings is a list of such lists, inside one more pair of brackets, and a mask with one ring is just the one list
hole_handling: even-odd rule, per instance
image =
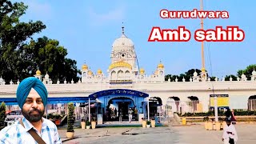
[[[186, 26], [191, 34], [201, 28], [199, 18], [160, 18], [160, 10], [200, 9], [200, 0], [15, 0], [28, 7], [23, 22], [40, 20], [46, 30], [34, 38], [47, 36], [57, 39], [68, 50], [67, 58], [77, 61], [81, 69], [86, 62], [93, 72], [104, 74], [110, 66], [110, 52], [116, 38], [125, 34], [134, 42], [138, 65], [152, 74], [161, 61], [166, 74], [182, 74], [202, 68], [201, 42], [192, 37], [189, 42], [148, 42], [153, 26], [177, 29]], [[215, 26], [239, 26], [245, 32], [242, 42], [204, 42], [206, 70], [210, 76], [237, 74], [246, 66], [255, 64], [256, 1], [204, 1], [204, 10], [226, 10], [230, 18], [204, 19], [204, 29]], [[122, 24], [123, 22], [123, 24]]]

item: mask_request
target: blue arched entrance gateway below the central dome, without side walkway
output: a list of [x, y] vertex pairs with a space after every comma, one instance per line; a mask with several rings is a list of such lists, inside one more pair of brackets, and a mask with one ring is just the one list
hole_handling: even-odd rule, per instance
[[[127, 89], [102, 90], [90, 94], [90, 114], [99, 123], [118, 122], [122, 115], [122, 122], [128, 122], [128, 111], [133, 110], [133, 121], [145, 118], [147, 114], [147, 98], [149, 94]], [[88, 106], [88, 103], [86, 104]], [[100, 120], [102, 119], [102, 120]]]

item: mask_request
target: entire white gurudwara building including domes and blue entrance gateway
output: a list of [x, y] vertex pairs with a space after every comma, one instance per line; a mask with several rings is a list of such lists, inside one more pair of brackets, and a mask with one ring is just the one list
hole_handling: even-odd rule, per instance
[[[238, 81], [216, 78], [213, 82], [202, 70], [201, 74], [195, 71], [190, 82], [185, 79], [170, 82], [170, 79], [165, 81], [163, 63], [156, 66], [154, 74], [148, 75], [143, 68], [138, 68], [134, 42], [122, 29], [121, 37], [112, 45], [106, 74], [100, 69], [94, 73], [89, 69], [90, 64], [84, 64], [77, 83], [53, 83], [48, 74], [42, 77], [40, 70], [34, 77], [42, 80], [49, 90], [48, 113], [65, 113], [66, 103], [75, 102], [77, 118], [83, 113], [88, 114], [90, 106], [89, 112], [98, 118], [98, 122], [115, 120], [121, 111], [126, 120], [130, 108], [134, 110], [134, 121], [148, 115], [151, 118], [172, 116], [174, 112], [206, 112], [214, 108], [214, 98], [217, 98], [219, 109], [256, 110], [256, 71], [251, 74], [250, 81], [242, 74]], [[5, 85], [4, 79], [0, 78], [0, 101], [10, 108], [16, 105], [11, 98], [15, 98], [18, 83]]]

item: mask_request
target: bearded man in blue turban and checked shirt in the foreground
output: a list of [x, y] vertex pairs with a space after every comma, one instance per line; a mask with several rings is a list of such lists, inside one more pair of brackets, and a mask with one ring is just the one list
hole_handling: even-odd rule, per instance
[[38, 79], [24, 79], [16, 92], [24, 118], [0, 131], [0, 143], [62, 143], [54, 122], [43, 118], [48, 92]]

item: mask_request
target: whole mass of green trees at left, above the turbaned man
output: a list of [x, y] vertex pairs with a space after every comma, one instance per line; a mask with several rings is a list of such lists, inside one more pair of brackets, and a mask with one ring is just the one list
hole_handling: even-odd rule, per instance
[[59, 78], [78, 82], [77, 62], [66, 58], [67, 50], [47, 37], [33, 40], [32, 36], [46, 29], [41, 21], [20, 22], [28, 6], [23, 2], [0, 2], [0, 75], [6, 83], [33, 76], [38, 68], [53, 82]]

